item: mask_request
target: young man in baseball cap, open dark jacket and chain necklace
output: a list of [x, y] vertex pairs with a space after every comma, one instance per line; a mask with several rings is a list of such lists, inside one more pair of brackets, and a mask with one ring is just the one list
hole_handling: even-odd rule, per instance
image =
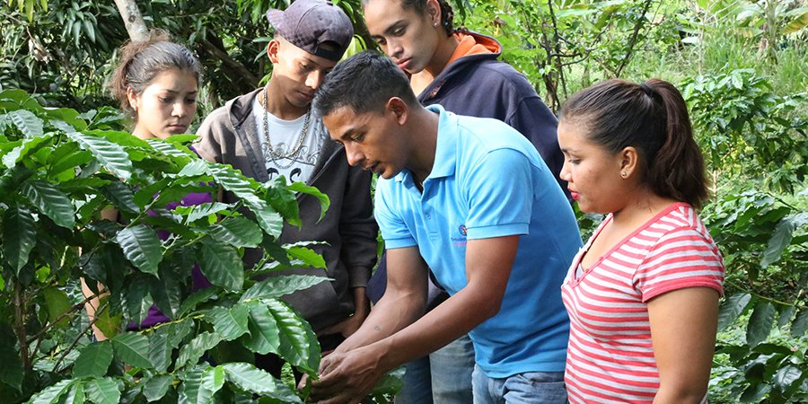
[[[329, 277], [309, 289], [285, 296], [317, 333], [323, 351], [337, 347], [370, 310], [364, 294], [376, 260], [377, 226], [370, 195], [371, 173], [350, 167], [345, 149], [329, 138], [312, 112], [314, 91], [342, 57], [353, 38], [350, 19], [324, 0], [297, 0], [285, 11], [269, 10], [276, 30], [268, 44], [272, 62], [266, 86], [228, 101], [199, 127], [198, 153], [206, 160], [232, 164], [244, 175], [265, 182], [284, 176], [328, 195], [321, 216], [317, 198], [299, 195], [302, 225], [285, 224], [281, 243], [322, 242], [312, 246], [327, 268], [302, 268], [281, 274]], [[232, 203], [233, 195], [224, 195]], [[261, 250], [244, 254], [248, 268]], [[260, 367], [279, 373], [277, 357], [259, 356]], [[275, 368], [275, 369], [273, 369]]]

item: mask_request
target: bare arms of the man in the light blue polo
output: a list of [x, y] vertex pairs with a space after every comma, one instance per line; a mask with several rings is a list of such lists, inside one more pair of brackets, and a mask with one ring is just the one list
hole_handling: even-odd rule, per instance
[[[355, 345], [355, 341], [346, 341], [351, 344], [347, 347], [340, 346], [341, 349], [338, 348], [340, 355], [326, 356], [323, 359], [321, 380], [314, 383], [312, 398], [330, 397], [329, 400], [321, 401], [324, 404], [362, 400], [384, 373], [444, 347], [494, 316], [499, 311], [505, 295], [505, 287], [518, 245], [517, 235], [470, 240], [466, 250], [468, 285], [438, 305], [435, 310], [428, 312], [407, 328], [392, 333], [390, 337], [378, 339], [364, 346]], [[388, 288], [379, 302], [382, 310], [387, 312], [380, 314], [380, 317], [384, 316], [388, 322], [397, 320], [390, 318], [395, 314], [392, 308], [388, 307], [388, 303], [394, 303], [402, 297], [400, 288], [394, 284], [400, 271], [400, 262], [396, 257], [398, 254], [395, 252], [398, 251], [388, 251], [390, 259]], [[409, 252], [414, 253], [417, 253], [417, 250]], [[426, 271], [420, 278], [422, 304], [426, 297], [425, 275]], [[389, 296], [393, 296], [392, 299], [388, 300]], [[376, 309], [371, 312], [371, 317], [365, 321], [367, 327], [363, 329], [370, 328], [379, 334], [394, 331], [394, 326], [385, 329], [382, 327], [390, 325], [382, 327], [375, 325], [376, 320], [373, 317], [375, 312]], [[365, 339], [364, 342], [372, 339]]]

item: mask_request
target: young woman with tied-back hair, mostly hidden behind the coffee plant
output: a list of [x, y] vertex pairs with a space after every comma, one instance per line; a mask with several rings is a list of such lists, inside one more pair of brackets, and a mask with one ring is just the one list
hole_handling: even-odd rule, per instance
[[[112, 95], [120, 102], [132, 119], [132, 135], [141, 139], [165, 139], [172, 135], [189, 132], [189, 125], [197, 111], [198, 85], [202, 66], [191, 51], [169, 40], [164, 31], [153, 31], [145, 42], [129, 42], [120, 48], [121, 60], [110, 82]], [[179, 202], [166, 206], [192, 206], [211, 202], [209, 194], [189, 194]], [[115, 209], [106, 209], [101, 217], [119, 221]], [[161, 240], [168, 238], [167, 232], [157, 232]], [[192, 272], [193, 288], [199, 289], [210, 283], [202, 275], [198, 266]], [[83, 284], [84, 294], [92, 294]], [[92, 319], [98, 300], [86, 305]], [[152, 327], [169, 319], [157, 310], [156, 306], [140, 324], [129, 324], [129, 329]], [[96, 338], [106, 339], [99, 329], [93, 329]]]

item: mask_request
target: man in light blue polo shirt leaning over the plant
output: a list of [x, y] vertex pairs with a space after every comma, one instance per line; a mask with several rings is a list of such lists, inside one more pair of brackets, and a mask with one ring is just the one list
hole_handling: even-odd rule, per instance
[[[312, 399], [361, 400], [385, 372], [470, 332], [475, 403], [566, 402], [560, 286], [581, 237], [531, 143], [496, 119], [422, 107], [373, 52], [339, 64], [314, 108], [348, 162], [382, 177], [389, 274], [363, 326], [323, 358]], [[427, 268], [451, 297], [423, 315]]]

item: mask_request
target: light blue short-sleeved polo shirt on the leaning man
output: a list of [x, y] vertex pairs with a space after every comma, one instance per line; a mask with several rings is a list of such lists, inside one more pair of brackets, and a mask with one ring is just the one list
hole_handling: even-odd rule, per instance
[[427, 109], [440, 119], [423, 194], [408, 170], [376, 185], [385, 246], [417, 246], [438, 282], [456, 294], [467, 283], [468, 240], [520, 235], [499, 312], [469, 333], [477, 364], [494, 378], [564, 371], [569, 320], [561, 283], [582, 245], [569, 202], [514, 128], [439, 105]]

